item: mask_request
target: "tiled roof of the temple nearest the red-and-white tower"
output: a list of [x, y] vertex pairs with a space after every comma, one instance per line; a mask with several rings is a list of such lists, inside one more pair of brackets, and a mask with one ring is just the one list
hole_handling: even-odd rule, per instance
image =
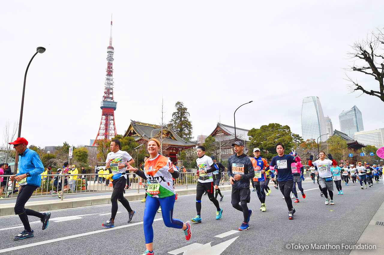
[[[159, 137], [161, 133], [161, 126], [149, 123], [142, 123], [139, 121], [132, 121], [129, 124], [124, 137], [130, 136], [138, 141], [140, 139], [149, 140], [153, 137]], [[178, 136], [173, 130], [163, 127], [163, 143], [170, 146], [177, 147], [194, 147], [197, 144], [194, 142], [185, 141]]]

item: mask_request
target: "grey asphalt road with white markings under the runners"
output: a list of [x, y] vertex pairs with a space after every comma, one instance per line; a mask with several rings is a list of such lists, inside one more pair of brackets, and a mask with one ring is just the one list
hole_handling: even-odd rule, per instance
[[[251, 192], [253, 209], [250, 229], [236, 232], [242, 223], [242, 213], [230, 204], [230, 191], [223, 192], [220, 202], [223, 218], [215, 220], [215, 207], [207, 196], [202, 199], [202, 223], [192, 225], [192, 238], [186, 241], [179, 229], [164, 226], [157, 214], [154, 227], [155, 254], [303, 254], [288, 250], [286, 244], [340, 244], [356, 243], [369, 221], [384, 200], [384, 185], [374, 184], [361, 190], [360, 185], [343, 185], [344, 195], [336, 195], [335, 205], [324, 205], [317, 184], [303, 183], [306, 199], [295, 204], [294, 220], [288, 220], [285, 200], [281, 192], [272, 188], [266, 197], [267, 211], [261, 212], [256, 192]], [[299, 195], [299, 198], [301, 195]], [[119, 204], [113, 229], [103, 229], [101, 223], [109, 219], [111, 205], [63, 209], [52, 212], [49, 227], [41, 230], [39, 219], [30, 216], [35, 237], [14, 241], [13, 236], [23, 230], [17, 216], [0, 218], [0, 254], [142, 254], [145, 241], [142, 225], [144, 203], [131, 202], [137, 211], [127, 224], [127, 212]], [[106, 214], [106, 215], [102, 215]], [[180, 196], [175, 202], [174, 217], [183, 221], [194, 217], [195, 195]], [[222, 233], [225, 237], [215, 237]], [[183, 248], [187, 245], [188, 248]], [[192, 249], [193, 247], [196, 247]], [[172, 252], [181, 248], [178, 252]], [[184, 250], [187, 250], [184, 252]], [[184, 253], [183, 253], [184, 252]], [[306, 250], [306, 254], [348, 254], [350, 250]], [[363, 253], [362, 253], [363, 254]]]

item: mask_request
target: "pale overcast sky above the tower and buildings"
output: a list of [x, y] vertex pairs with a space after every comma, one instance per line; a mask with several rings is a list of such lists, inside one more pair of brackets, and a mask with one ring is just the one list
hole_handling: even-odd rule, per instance
[[[384, 127], [383, 102], [349, 94], [344, 80], [350, 45], [384, 26], [384, 3], [309, 2], [3, 2], [0, 126], [18, 121], [26, 65], [44, 46], [28, 71], [22, 136], [38, 146], [88, 145], [100, 124], [113, 13], [118, 134], [131, 119], [161, 123], [162, 96], [166, 122], [182, 101], [195, 137], [210, 134], [219, 114], [233, 126], [233, 111], [251, 100], [237, 127], [280, 123], [301, 134], [305, 96], [319, 97], [334, 129], [355, 104], [365, 130]], [[371, 77], [348, 75], [377, 90]]]

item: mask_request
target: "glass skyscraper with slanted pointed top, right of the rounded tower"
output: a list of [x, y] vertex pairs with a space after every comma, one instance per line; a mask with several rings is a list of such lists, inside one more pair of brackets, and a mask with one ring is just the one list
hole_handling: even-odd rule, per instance
[[353, 138], [355, 132], [363, 131], [364, 126], [362, 124], [361, 111], [357, 106], [353, 106], [351, 109], [343, 111], [339, 114], [340, 129], [341, 132], [347, 134]]

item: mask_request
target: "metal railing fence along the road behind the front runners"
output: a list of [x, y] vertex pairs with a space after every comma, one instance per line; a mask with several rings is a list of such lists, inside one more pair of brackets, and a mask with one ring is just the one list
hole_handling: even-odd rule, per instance
[[[32, 197], [58, 196], [63, 200], [66, 195], [80, 193], [112, 192], [112, 181], [106, 179], [109, 174], [46, 174], [41, 175], [41, 184]], [[19, 185], [16, 180], [11, 181], [9, 175], [0, 176], [4, 178], [3, 193], [1, 197], [5, 199], [15, 199], [18, 194]], [[310, 172], [306, 171], [305, 178], [310, 177]], [[194, 172], [180, 172], [179, 178], [174, 180], [175, 189], [185, 187], [195, 188], [197, 176]], [[223, 172], [220, 185], [229, 184], [227, 172]], [[134, 173], [127, 174], [126, 190], [135, 190], [137, 193], [146, 189], [146, 181]]]

